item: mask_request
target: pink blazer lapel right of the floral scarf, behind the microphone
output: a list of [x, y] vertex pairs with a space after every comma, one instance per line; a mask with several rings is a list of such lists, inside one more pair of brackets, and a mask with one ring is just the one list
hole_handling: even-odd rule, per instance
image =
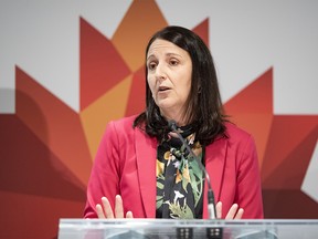
[[[205, 148], [205, 169], [210, 176], [215, 204], [220, 200], [226, 162], [227, 141], [219, 138]], [[204, 185], [203, 218], [208, 218], [208, 183]]]

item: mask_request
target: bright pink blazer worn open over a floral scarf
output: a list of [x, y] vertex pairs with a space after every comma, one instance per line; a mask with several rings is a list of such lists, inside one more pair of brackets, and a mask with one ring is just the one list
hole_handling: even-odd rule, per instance
[[[114, 208], [121, 195], [125, 212], [135, 218], [156, 217], [157, 139], [132, 128], [135, 116], [109, 122], [102, 138], [87, 186], [85, 218], [96, 218], [95, 206], [106, 196]], [[222, 201], [224, 218], [236, 202], [243, 218], [263, 218], [257, 154], [252, 136], [226, 124], [229, 138], [219, 138], [205, 148], [205, 167], [215, 201]], [[203, 218], [208, 218], [206, 184]]]

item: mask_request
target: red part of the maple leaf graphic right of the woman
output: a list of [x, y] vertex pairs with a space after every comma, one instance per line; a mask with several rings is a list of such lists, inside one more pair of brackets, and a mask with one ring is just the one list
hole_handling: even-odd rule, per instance
[[316, 146], [318, 116], [273, 113], [273, 69], [231, 98], [225, 110], [255, 138], [265, 217], [316, 218], [318, 205], [300, 187]]

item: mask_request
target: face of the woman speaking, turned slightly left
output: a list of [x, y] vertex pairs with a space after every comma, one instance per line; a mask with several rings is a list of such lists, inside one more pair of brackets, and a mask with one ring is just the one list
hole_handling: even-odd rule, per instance
[[191, 89], [192, 61], [187, 51], [161, 39], [147, 54], [147, 81], [161, 114], [184, 124], [186, 102]]

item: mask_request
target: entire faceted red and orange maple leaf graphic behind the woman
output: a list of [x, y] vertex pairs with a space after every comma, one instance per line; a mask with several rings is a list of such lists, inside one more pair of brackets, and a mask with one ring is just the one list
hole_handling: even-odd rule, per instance
[[[34, 220], [47, 219], [47, 226], [39, 228], [11, 207], [1, 214], [50, 237], [59, 218], [82, 217], [107, 122], [144, 111], [145, 46], [168, 23], [155, 1], [134, 1], [112, 40], [83, 18], [80, 25], [81, 112], [17, 66], [17, 113], [0, 115], [1, 204], [17, 201]], [[193, 31], [209, 43], [209, 19]], [[317, 204], [300, 191], [300, 184], [317, 142], [318, 116], [274, 115], [272, 92], [269, 69], [225, 104], [226, 113], [255, 137], [265, 216], [316, 217]], [[290, 206], [293, 212], [287, 211]], [[3, 228], [10, 228], [7, 224]]]

